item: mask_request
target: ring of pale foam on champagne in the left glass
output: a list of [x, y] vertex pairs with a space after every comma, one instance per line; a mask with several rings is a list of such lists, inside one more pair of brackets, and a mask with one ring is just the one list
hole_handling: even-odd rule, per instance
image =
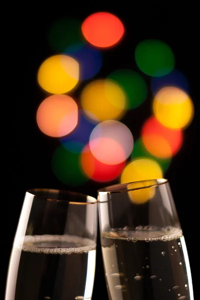
[[96, 249], [89, 238], [76, 235], [25, 235], [22, 242], [14, 242], [14, 247], [22, 251], [44, 254], [88, 253]]

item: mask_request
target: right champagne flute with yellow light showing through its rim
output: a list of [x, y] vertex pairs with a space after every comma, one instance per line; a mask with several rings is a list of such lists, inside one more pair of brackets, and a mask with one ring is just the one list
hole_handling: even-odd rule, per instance
[[98, 190], [110, 300], [193, 300], [189, 260], [166, 179]]

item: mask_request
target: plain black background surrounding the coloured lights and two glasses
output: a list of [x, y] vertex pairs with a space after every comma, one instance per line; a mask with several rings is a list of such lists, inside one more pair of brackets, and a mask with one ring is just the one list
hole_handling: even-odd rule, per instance
[[[132, 2], [132, 1], [131, 1]], [[198, 113], [199, 113], [199, 30], [197, 8], [192, 2], [181, 5], [163, 2], [156, 4], [129, 3], [97, 4], [85, 3], [53, 3], [41, 7], [36, 4], [15, 4], [4, 23], [8, 32], [9, 55], [5, 55], [8, 63], [8, 89], [5, 102], [8, 104], [6, 118], [5, 143], [6, 197], [2, 199], [7, 211], [6, 233], [1, 240], [1, 265], [3, 280], [2, 297], [12, 240], [15, 234], [25, 190], [31, 187], [65, 188], [88, 193], [96, 197], [96, 190], [105, 184], [93, 181], [72, 187], [61, 183], [54, 176], [50, 161], [59, 144], [42, 134], [35, 122], [36, 108], [45, 97], [36, 82], [36, 73], [40, 63], [55, 52], [47, 41], [49, 26], [61, 17], [74, 17], [84, 20], [92, 12], [109, 11], [117, 15], [126, 28], [124, 41], [113, 50], [104, 51], [105, 59], [102, 76], [106, 76], [114, 68], [131, 68], [134, 60], [136, 44], [147, 38], [165, 41], [175, 55], [175, 68], [188, 79], [189, 94], [194, 103], [194, 119], [184, 130], [184, 141], [180, 151], [172, 159], [165, 177], [169, 180], [176, 209], [185, 236], [190, 260], [194, 292], [197, 290], [198, 266], [197, 228], [198, 228], [198, 174], [199, 156], [197, 151]], [[114, 53], [114, 54], [113, 54]], [[136, 111], [136, 110], [135, 110]], [[1, 111], [3, 114], [3, 111]], [[127, 112], [122, 121], [130, 128], [136, 140], [144, 119], [150, 116], [150, 100], [137, 108], [136, 112]], [[11, 128], [11, 131], [10, 131]], [[3, 158], [2, 158], [3, 160]], [[195, 174], [197, 173], [197, 175]], [[115, 183], [115, 182], [109, 182]], [[8, 185], [7, 185], [8, 184]], [[1, 211], [2, 220], [5, 217]], [[3, 228], [6, 228], [5, 230]], [[196, 237], [195, 237], [196, 236]], [[195, 294], [195, 293], [194, 293]], [[0, 298], [2, 298], [0, 297]], [[96, 274], [93, 299], [106, 299], [106, 286], [102, 268], [101, 252], [97, 247]]]

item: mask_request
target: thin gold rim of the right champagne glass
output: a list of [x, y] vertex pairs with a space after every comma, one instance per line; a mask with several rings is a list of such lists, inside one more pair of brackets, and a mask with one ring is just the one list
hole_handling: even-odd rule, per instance
[[[132, 183], [139, 183], [139, 182], [146, 182], [146, 181], [154, 181], [154, 183], [152, 184], [148, 184], [148, 185], [144, 185], [144, 186], [139, 186], [139, 187], [133, 187], [133, 188], [127, 188], [127, 186], [129, 184]], [[124, 191], [131, 191], [131, 190], [137, 190], [137, 189], [143, 189], [143, 188], [149, 188], [152, 186], [159, 186], [162, 184], [165, 184], [168, 182], [168, 179], [165, 178], [157, 178], [157, 179], [145, 179], [145, 180], [138, 180], [138, 181], [132, 181], [132, 182], [127, 182], [127, 183], [118, 183], [118, 184], [114, 184], [114, 185], [109, 185], [109, 186], [105, 186], [102, 188], [99, 188], [97, 190], [97, 193], [117, 193], [117, 192], [124, 192]]]

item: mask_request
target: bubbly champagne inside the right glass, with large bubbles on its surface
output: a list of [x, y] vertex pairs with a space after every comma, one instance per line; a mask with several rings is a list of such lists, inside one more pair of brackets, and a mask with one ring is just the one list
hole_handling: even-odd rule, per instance
[[128, 231], [101, 235], [110, 300], [193, 300], [182, 231]]

